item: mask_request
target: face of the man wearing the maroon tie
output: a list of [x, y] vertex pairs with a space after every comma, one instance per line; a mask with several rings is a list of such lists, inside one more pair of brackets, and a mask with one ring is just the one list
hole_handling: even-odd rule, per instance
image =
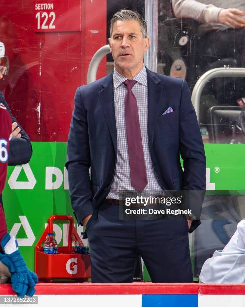
[[116, 21], [109, 46], [115, 69], [125, 77], [133, 78], [143, 68], [144, 52], [148, 49], [149, 38], [144, 39], [138, 21]]

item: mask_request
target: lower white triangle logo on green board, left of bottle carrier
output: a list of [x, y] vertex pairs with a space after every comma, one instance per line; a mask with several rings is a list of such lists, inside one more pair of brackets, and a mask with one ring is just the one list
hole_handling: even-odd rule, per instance
[[23, 226], [23, 229], [26, 233], [27, 238], [17, 238], [19, 246], [32, 246], [35, 242], [35, 235], [30, 227], [30, 224], [25, 215], [19, 215], [21, 223], [15, 223], [10, 231], [10, 234], [14, 235], [17, 238], [17, 234], [20, 230], [20, 227]]

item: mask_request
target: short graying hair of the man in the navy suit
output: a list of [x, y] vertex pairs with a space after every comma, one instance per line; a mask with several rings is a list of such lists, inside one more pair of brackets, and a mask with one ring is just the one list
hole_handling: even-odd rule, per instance
[[141, 28], [141, 32], [143, 34], [143, 37], [146, 38], [147, 37], [147, 24], [144, 20], [144, 18], [136, 11], [132, 11], [132, 10], [125, 10], [122, 9], [118, 12], [116, 12], [111, 20], [110, 20], [110, 31], [109, 31], [109, 36], [111, 37], [112, 31], [113, 31], [113, 26], [114, 26], [114, 22], [116, 22], [117, 20], [123, 21], [123, 20], [136, 20], [139, 22], [140, 24], [140, 28]]

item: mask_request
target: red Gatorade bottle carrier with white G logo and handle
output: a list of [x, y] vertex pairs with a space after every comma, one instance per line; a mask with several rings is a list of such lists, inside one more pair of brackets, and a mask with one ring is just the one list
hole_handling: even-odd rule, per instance
[[[45, 254], [41, 244], [49, 232], [53, 232], [53, 220], [68, 220], [68, 246], [58, 246], [57, 254]], [[51, 215], [48, 226], [35, 246], [35, 273], [40, 280], [54, 278], [82, 279], [91, 278], [90, 254], [77, 254], [72, 248], [72, 241], [78, 241], [83, 246], [82, 240], [74, 227], [74, 218], [70, 215]]]

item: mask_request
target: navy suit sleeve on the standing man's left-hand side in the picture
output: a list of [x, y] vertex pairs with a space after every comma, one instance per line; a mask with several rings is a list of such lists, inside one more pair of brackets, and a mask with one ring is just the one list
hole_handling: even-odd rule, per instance
[[83, 106], [81, 88], [75, 94], [67, 153], [71, 205], [78, 223], [81, 223], [84, 217], [93, 212], [87, 112]]

